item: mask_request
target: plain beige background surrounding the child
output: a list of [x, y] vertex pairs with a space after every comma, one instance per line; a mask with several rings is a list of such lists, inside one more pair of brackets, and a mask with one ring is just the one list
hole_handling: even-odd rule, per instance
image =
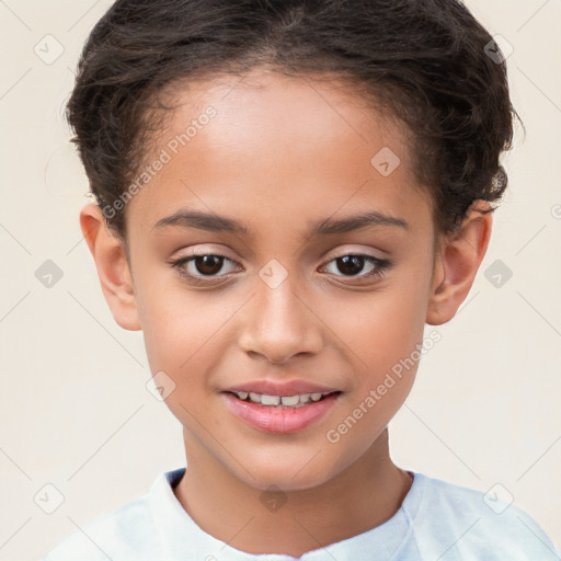
[[[184, 461], [179, 422], [145, 387], [141, 333], [114, 322], [78, 226], [88, 184], [62, 106], [110, 4], [0, 1], [0, 560], [41, 558]], [[467, 4], [514, 48], [527, 137], [505, 159], [511, 185], [480, 276], [437, 328], [443, 339], [390, 425], [392, 454], [466, 486], [501, 483], [560, 547], [561, 2]], [[34, 51], [45, 41], [50, 56], [64, 48], [51, 64]], [[50, 288], [35, 276], [46, 260], [62, 273]], [[513, 273], [500, 287], [484, 276], [496, 260]], [[65, 497], [53, 514], [34, 501], [47, 483]]]

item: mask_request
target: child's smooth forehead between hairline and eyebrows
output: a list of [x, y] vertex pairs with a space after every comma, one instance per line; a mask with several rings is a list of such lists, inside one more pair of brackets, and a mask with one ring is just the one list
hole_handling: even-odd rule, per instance
[[128, 204], [127, 221], [141, 215], [153, 226], [190, 206], [286, 227], [373, 205], [419, 216], [428, 204], [414, 184], [407, 128], [344, 81], [253, 71], [174, 91], [178, 108], [145, 165], [165, 163]]

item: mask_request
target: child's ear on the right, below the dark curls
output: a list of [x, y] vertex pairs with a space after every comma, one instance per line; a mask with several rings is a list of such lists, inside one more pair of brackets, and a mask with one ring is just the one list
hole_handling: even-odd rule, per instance
[[492, 220], [489, 203], [476, 201], [459, 230], [443, 238], [435, 255], [426, 323], [440, 325], [451, 320], [468, 296], [489, 245]]

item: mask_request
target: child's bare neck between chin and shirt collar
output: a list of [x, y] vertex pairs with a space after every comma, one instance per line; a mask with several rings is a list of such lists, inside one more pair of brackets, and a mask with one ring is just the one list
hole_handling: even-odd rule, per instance
[[357, 536], [391, 518], [412, 484], [389, 457], [387, 430], [333, 479], [279, 493], [240, 481], [185, 435], [187, 439], [193, 459], [187, 456], [175, 496], [204, 531], [248, 553], [301, 557]]

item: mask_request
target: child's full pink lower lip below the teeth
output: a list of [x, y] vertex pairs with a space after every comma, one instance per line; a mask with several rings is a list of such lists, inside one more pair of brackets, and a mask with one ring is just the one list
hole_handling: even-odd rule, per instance
[[291, 434], [304, 431], [319, 421], [335, 403], [339, 393], [331, 393], [320, 401], [311, 401], [299, 408], [260, 405], [242, 401], [232, 393], [225, 392], [230, 410], [248, 424], [272, 434]]

